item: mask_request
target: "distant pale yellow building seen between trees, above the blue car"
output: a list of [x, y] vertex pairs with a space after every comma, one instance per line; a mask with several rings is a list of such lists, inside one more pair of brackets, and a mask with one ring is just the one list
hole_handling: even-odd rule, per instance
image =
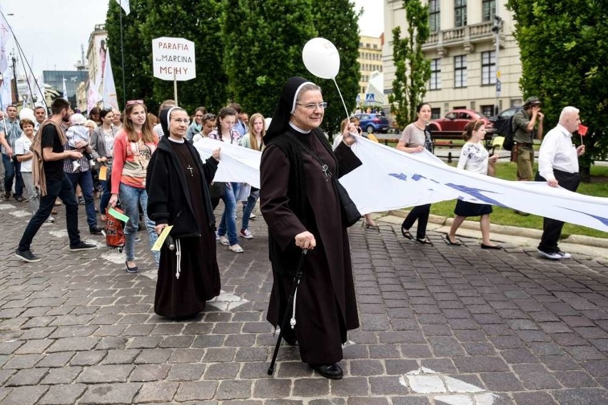
[[364, 106], [380, 106], [378, 102], [382, 103], [382, 100], [375, 100], [372, 102], [366, 102], [365, 95], [370, 85], [370, 78], [373, 78], [375, 72], [382, 73], [382, 36], [376, 38], [374, 36], [360, 36], [359, 37], [359, 62], [360, 78], [359, 78], [359, 93], [357, 96], [357, 106], [362, 108]]

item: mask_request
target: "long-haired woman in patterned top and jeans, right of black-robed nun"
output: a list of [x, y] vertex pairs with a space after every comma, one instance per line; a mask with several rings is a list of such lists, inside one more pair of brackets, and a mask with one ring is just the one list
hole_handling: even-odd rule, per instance
[[[240, 135], [234, 130], [236, 122], [236, 111], [233, 108], [222, 108], [218, 113], [218, 129], [209, 134], [209, 138], [221, 140], [224, 143], [240, 145]], [[245, 250], [238, 245], [236, 235], [236, 196], [240, 190], [240, 183], [226, 183], [222, 200], [224, 202], [224, 212], [218, 227], [218, 237], [222, 245], [229, 245], [230, 251], [243, 253]], [[226, 237], [228, 234], [228, 237]]]

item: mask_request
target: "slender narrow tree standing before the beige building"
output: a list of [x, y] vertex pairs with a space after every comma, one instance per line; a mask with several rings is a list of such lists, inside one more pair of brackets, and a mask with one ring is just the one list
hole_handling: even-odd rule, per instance
[[388, 97], [390, 111], [400, 128], [416, 121], [416, 106], [427, 93], [430, 61], [422, 52], [429, 30], [429, 9], [420, 0], [403, 0], [407, 36], [401, 38], [399, 26], [392, 30], [392, 59], [395, 80]]

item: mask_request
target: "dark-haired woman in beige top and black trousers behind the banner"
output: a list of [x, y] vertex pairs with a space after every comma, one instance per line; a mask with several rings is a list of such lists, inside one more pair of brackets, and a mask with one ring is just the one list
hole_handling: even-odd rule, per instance
[[[431, 107], [429, 103], [420, 103], [416, 106], [416, 114], [418, 119], [410, 125], [407, 125], [401, 133], [401, 139], [397, 143], [397, 149], [406, 153], [420, 153], [423, 150], [428, 150], [432, 153], [433, 144], [430, 129], [427, 122], [430, 120]], [[414, 237], [410, 233], [410, 227], [414, 225], [416, 220], [418, 226], [416, 228], [416, 239], [422, 245], [431, 245], [432, 242], [427, 237], [427, 223], [429, 222], [430, 204], [418, 205], [413, 207], [403, 223], [401, 224], [401, 234], [409, 240]]]

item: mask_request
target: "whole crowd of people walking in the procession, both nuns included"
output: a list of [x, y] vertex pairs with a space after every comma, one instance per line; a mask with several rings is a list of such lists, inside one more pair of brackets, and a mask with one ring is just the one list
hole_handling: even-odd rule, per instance
[[[168, 235], [160, 251], [152, 251], [158, 267], [154, 311], [171, 319], [193, 317], [220, 293], [216, 241], [231, 252], [244, 252], [238, 238], [254, 236], [248, 226], [259, 199], [268, 225], [273, 270], [268, 322], [279, 328], [289, 314], [293, 324], [297, 318], [297, 327], [281, 328], [280, 336], [288, 344], [298, 344], [302, 361], [319, 374], [340, 379], [342, 347], [348, 330], [357, 328], [359, 319], [343, 197], [330, 180], [361, 165], [350, 146], [364, 134], [356, 119], [347, 119], [330, 145], [320, 130], [326, 106], [320, 88], [300, 77], [290, 78], [283, 86], [268, 128], [260, 113], [249, 118], [237, 103], [221, 108], [217, 116], [204, 107], [190, 116], [175, 101], [166, 100], [158, 120], [141, 100], [128, 101], [123, 113], [93, 108], [88, 119], [74, 113], [62, 98], [52, 103], [49, 118], [44, 108], [36, 108], [32, 117], [19, 120], [17, 108], [9, 106], [0, 121], [2, 197], [29, 201], [32, 212], [15, 254], [26, 262], [41, 260], [31, 244], [44, 222], [54, 219], [51, 214], [58, 204], [65, 206], [69, 249], [96, 249], [97, 245], [81, 239], [78, 196], [82, 196], [91, 235], [101, 235], [100, 224], [108, 220], [109, 210], [120, 207], [128, 218], [124, 227], [126, 272], [139, 272], [136, 243], [140, 227], [146, 230], [150, 247], [158, 237]], [[537, 99], [528, 99], [525, 107], [523, 116], [530, 121], [517, 118], [515, 125], [530, 135], [535, 125], [541, 125], [542, 113]], [[584, 153], [584, 147], [572, 148], [571, 136], [580, 123], [578, 112], [564, 108], [559, 124], [542, 141], [537, 180], [576, 190], [577, 157]], [[432, 153], [427, 126], [430, 113], [430, 104], [417, 106], [417, 121], [403, 131], [398, 150]], [[482, 120], [467, 125], [459, 169], [489, 174], [497, 155], [490, 156], [485, 149], [485, 135]], [[194, 144], [203, 138], [263, 151], [260, 188], [214, 182], [222, 152], [217, 148], [211, 155], [201, 156]], [[520, 160], [528, 165], [533, 155], [522, 144]], [[530, 177], [526, 168], [518, 170], [520, 180]], [[214, 210], [220, 200], [223, 213], [216, 221]], [[239, 205], [243, 212], [240, 227]], [[481, 247], [500, 249], [490, 240], [491, 212], [491, 205], [457, 201], [445, 241], [461, 245], [455, 237], [457, 228], [466, 217], [478, 216]], [[426, 235], [429, 213], [430, 205], [414, 207], [401, 225], [402, 235], [432, 245]], [[414, 237], [410, 229], [416, 221]], [[364, 223], [377, 227], [368, 216]], [[557, 247], [562, 225], [544, 220], [538, 250], [549, 259], [569, 257]]]

